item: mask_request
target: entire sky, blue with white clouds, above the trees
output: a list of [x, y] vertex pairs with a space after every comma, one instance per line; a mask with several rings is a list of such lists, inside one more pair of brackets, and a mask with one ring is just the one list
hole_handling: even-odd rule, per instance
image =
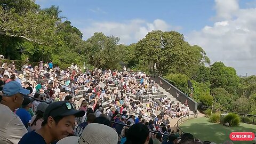
[[222, 61], [238, 75], [256, 74], [256, 0], [36, 0], [41, 8], [59, 6], [61, 16], [80, 29], [136, 43], [152, 30], [176, 30], [203, 47], [211, 63]]

